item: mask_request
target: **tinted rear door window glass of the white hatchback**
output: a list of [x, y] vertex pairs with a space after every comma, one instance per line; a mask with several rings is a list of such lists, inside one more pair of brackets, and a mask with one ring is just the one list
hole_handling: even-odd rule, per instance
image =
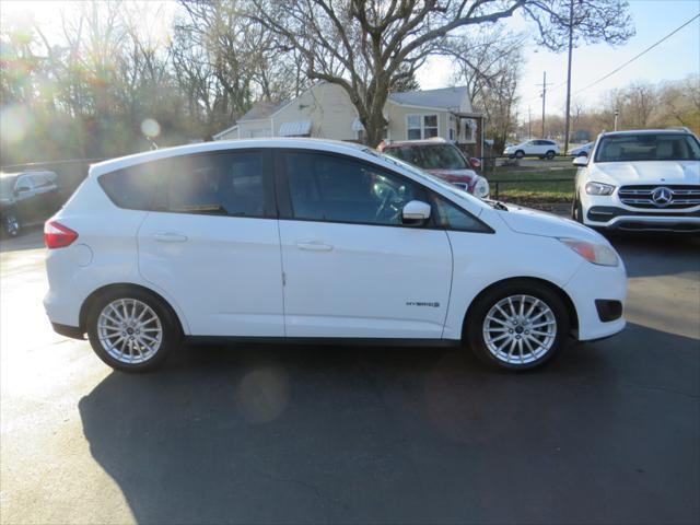
[[260, 152], [215, 153], [172, 160], [160, 207], [177, 213], [265, 217]]

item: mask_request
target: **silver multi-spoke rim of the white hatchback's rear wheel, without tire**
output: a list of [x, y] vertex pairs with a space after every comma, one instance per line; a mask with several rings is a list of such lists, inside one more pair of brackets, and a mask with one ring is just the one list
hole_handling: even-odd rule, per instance
[[105, 351], [121, 363], [150, 360], [163, 342], [161, 319], [148, 304], [117, 299], [97, 318], [97, 335]]

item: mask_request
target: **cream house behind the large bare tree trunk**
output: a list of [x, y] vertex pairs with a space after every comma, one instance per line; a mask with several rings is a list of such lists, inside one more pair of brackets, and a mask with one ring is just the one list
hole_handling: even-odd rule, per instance
[[[471, 107], [466, 86], [390, 93], [384, 106], [385, 138], [442, 137], [481, 156], [483, 115]], [[214, 140], [260, 137], [317, 137], [362, 142], [364, 127], [346, 91], [319, 82], [283, 103], [260, 102]], [[373, 144], [374, 145], [374, 144]]]

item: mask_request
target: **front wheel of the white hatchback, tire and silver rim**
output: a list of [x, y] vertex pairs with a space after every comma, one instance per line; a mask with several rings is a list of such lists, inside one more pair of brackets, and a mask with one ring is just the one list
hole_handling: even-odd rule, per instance
[[528, 370], [553, 358], [564, 346], [570, 319], [561, 298], [529, 281], [513, 281], [480, 296], [469, 311], [467, 340], [483, 362]]

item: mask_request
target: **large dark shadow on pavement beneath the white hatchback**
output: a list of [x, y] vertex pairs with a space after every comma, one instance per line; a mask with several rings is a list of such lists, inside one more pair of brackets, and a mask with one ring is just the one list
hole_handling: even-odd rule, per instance
[[509, 374], [459, 350], [192, 347], [79, 409], [139, 523], [693, 522], [698, 350], [630, 325]]

